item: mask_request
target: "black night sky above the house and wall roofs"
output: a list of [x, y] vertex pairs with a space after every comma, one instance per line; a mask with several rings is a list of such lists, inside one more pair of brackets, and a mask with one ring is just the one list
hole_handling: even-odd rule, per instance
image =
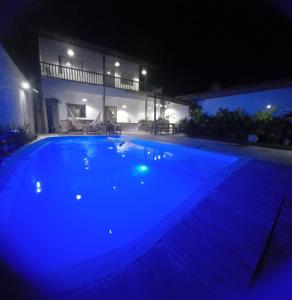
[[289, 0], [2, 5], [4, 39], [24, 40], [23, 28], [34, 26], [115, 48], [156, 66], [149, 80], [170, 95], [204, 91], [214, 82], [227, 87], [292, 76]]

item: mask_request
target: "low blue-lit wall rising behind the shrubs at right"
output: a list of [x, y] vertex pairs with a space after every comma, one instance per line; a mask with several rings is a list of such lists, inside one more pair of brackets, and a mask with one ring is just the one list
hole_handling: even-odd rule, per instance
[[276, 108], [276, 114], [281, 114], [292, 111], [292, 87], [210, 98], [201, 100], [198, 104], [209, 114], [215, 114], [220, 107], [232, 111], [243, 108], [248, 114], [254, 114], [267, 110], [267, 105]]

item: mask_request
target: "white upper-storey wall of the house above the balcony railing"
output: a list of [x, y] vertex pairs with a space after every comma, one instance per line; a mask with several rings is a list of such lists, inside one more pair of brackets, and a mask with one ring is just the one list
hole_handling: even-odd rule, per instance
[[[102, 53], [45, 37], [39, 37], [39, 45], [39, 56], [42, 62], [59, 65], [60, 56], [68, 58], [69, 62], [70, 57], [67, 51], [68, 49], [72, 49], [74, 51], [73, 58], [82, 61], [84, 71], [103, 73]], [[115, 62], [117, 61], [120, 63], [119, 67], [115, 67]], [[106, 72], [110, 72], [112, 76], [139, 81], [139, 64], [134, 62], [106, 55], [105, 70]]]

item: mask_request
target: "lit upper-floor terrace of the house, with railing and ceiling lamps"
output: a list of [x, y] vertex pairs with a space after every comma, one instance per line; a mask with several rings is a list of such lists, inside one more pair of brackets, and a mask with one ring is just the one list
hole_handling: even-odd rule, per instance
[[[63, 36], [39, 37], [41, 76], [139, 92], [145, 64], [123, 53]], [[144, 73], [143, 73], [144, 72]]]

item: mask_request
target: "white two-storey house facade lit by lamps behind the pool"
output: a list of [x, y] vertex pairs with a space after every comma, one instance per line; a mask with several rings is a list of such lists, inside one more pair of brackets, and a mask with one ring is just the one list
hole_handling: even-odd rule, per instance
[[[81, 122], [100, 116], [127, 130], [137, 129], [140, 120], [154, 120], [154, 99], [145, 91], [148, 75], [142, 63], [111, 50], [51, 36], [39, 37], [39, 60], [42, 131], [61, 131], [72, 113]], [[188, 105], [181, 101], [156, 102], [156, 119], [177, 123], [188, 114]]]

